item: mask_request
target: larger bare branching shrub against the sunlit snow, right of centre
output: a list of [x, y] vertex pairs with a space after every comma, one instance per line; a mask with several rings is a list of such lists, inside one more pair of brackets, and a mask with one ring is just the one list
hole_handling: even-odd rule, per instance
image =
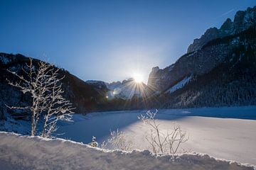
[[186, 131], [181, 130], [179, 125], [174, 123], [174, 130], [172, 132], [161, 132], [159, 123], [156, 123], [157, 110], [155, 113], [147, 111], [146, 115], [139, 116], [139, 120], [149, 125], [150, 132], [146, 134], [146, 141], [149, 142], [152, 152], [157, 153], [170, 153], [175, 154], [182, 143], [188, 141]]

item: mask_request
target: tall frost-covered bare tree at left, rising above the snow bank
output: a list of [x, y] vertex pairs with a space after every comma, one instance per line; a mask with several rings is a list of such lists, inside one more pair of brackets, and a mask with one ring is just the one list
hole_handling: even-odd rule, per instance
[[56, 129], [58, 120], [70, 120], [73, 108], [71, 103], [63, 98], [60, 80], [58, 79], [59, 69], [54, 69], [53, 65], [46, 62], [38, 62], [38, 68], [33, 65], [33, 60], [22, 69], [25, 76], [11, 72], [20, 81], [14, 83], [9, 81], [11, 86], [15, 86], [23, 92], [30, 94], [32, 98], [31, 106], [9, 108], [27, 109], [31, 111], [31, 136], [37, 134], [38, 120], [42, 114], [44, 116], [43, 137], [50, 137]]

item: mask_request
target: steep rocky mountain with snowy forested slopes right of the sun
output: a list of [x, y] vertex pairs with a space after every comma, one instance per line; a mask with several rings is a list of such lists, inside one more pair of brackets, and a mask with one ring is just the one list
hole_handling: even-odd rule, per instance
[[238, 11], [234, 21], [206, 30], [174, 64], [154, 67], [147, 85], [159, 96], [151, 107], [255, 105], [255, 23], [256, 6]]

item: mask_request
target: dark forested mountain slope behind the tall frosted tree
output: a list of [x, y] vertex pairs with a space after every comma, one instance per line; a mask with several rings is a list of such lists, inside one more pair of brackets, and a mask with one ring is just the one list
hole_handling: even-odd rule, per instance
[[[22, 94], [19, 89], [8, 84], [6, 78], [10, 81], [17, 81], [18, 79], [6, 70], [18, 72], [18, 74], [24, 76], [22, 68], [26, 67], [28, 62], [29, 58], [23, 55], [0, 53], [0, 119], [3, 118], [4, 113], [26, 115], [26, 113], [18, 113], [6, 107], [6, 105], [27, 106], [31, 103], [30, 96]], [[33, 59], [34, 65], [37, 65], [38, 62], [39, 60]], [[56, 69], [57, 67], [53, 66], [53, 68]], [[86, 83], [64, 69], [60, 69], [59, 74], [60, 77], [65, 76], [62, 80], [63, 90], [65, 91], [64, 96], [73, 103], [76, 113], [115, 109], [112, 105], [106, 108], [105, 103], [108, 103], [108, 101], [105, 95], [108, 89], [105, 84], [100, 87], [97, 84]]]

